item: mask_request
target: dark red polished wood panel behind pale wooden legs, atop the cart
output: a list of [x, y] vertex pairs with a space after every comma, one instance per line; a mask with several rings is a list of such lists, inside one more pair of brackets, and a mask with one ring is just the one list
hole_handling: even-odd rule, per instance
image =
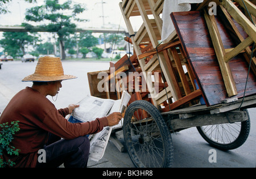
[[[200, 90], [203, 92], [205, 102], [207, 105], [221, 103], [222, 100], [228, 98], [228, 94], [203, 12], [173, 12], [171, 18], [187, 54], [189, 65], [191, 65]], [[221, 18], [216, 16], [216, 20], [224, 48], [234, 48], [236, 45], [234, 45], [229, 32], [222, 25]], [[236, 83], [237, 97], [243, 97], [249, 65], [241, 55], [233, 58], [229, 65]], [[246, 96], [253, 94], [256, 94], [256, 80], [254, 74], [250, 73]]]

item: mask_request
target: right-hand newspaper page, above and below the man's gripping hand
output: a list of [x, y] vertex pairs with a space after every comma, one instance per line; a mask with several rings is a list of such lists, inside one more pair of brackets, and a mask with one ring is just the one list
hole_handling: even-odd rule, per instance
[[[121, 100], [116, 100], [113, 104], [111, 110], [108, 114], [113, 112], [123, 112], [125, 110], [126, 105], [128, 104], [131, 96], [128, 92], [123, 91]], [[118, 125], [113, 127], [122, 126], [119, 122]], [[102, 159], [105, 154], [106, 146], [109, 141], [110, 134], [112, 132], [113, 127], [105, 127], [100, 133], [95, 134], [93, 138], [90, 140], [90, 155], [89, 158], [94, 161], [98, 161]]]

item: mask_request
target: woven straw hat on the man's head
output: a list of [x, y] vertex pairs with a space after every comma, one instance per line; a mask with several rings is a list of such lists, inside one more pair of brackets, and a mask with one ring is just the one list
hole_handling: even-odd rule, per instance
[[73, 75], [64, 75], [60, 58], [46, 56], [38, 59], [35, 73], [24, 78], [22, 82], [52, 82], [75, 78], [77, 77]]

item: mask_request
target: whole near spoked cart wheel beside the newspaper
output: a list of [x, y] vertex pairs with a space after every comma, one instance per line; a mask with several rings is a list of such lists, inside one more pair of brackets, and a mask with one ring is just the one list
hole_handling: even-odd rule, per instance
[[148, 101], [129, 105], [123, 122], [123, 135], [129, 156], [136, 167], [172, 167], [171, 133], [160, 112]]

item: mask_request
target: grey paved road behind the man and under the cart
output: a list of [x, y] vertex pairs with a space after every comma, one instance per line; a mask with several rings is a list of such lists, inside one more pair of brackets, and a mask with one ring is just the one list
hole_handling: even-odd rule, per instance
[[[34, 73], [36, 62], [22, 63], [19, 61], [3, 62], [0, 70], [0, 112], [5, 109], [11, 97], [26, 86], [31, 86], [31, 82], [21, 82], [21, 80]], [[63, 81], [57, 101], [51, 97], [49, 100], [55, 104], [56, 108], [65, 108], [69, 104], [78, 103], [83, 97], [90, 94], [87, 73], [92, 71], [108, 70], [109, 62], [63, 62], [64, 73], [78, 76], [74, 80]], [[255, 147], [256, 147], [256, 109], [249, 109], [251, 118], [251, 130], [249, 138], [240, 148], [230, 151], [216, 150], [216, 163], [210, 163], [209, 151], [213, 149], [197, 132], [195, 127], [172, 134], [174, 144], [174, 164], [175, 168], [193, 167], [249, 167], [255, 168]], [[123, 143], [123, 139], [119, 139]], [[127, 151], [119, 152], [110, 141], [106, 149], [105, 159], [116, 167], [134, 167], [127, 154]]]

